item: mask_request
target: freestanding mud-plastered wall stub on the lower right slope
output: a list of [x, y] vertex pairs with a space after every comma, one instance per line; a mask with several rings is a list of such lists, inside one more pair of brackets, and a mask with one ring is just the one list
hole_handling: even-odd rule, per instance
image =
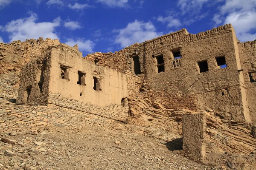
[[183, 152], [184, 156], [194, 161], [202, 162], [206, 154], [205, 113], [183, 116]]

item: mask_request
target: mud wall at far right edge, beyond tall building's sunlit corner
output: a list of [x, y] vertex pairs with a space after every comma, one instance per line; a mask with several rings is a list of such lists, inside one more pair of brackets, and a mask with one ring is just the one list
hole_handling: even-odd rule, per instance
[[251, 82], [250, 80], [250, 73], [256, 72], [256, 41], [239, 42], [238, 46], [248, 109], [252, 122], [256, 122], [256, 82]]

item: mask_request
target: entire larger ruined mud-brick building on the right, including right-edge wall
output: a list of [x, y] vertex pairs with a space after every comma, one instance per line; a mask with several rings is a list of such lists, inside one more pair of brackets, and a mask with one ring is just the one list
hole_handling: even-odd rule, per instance
[[[256, 41], [241, 43], [231, 24], [198, 34], [186, 29], [85, 59], [141, 79], [144, 98], [166, 108], [213, 110], [256, 122]], [[128, 84], [129, 86], [129, 84]]]

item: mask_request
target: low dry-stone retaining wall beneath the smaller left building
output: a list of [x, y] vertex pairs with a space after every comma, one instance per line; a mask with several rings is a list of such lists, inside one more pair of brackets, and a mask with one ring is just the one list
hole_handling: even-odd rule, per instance
[[70, 129], [95, 125], [111, 128], [116, 121], [124, 122], [129, 116], [128, 108], [121, 105], [101, 108], [90, 103], [64, 99], [56, 94], [50, 95], [49, 100], [54, 100], [55, 103], [47, 106], [26, 106], [0, 100], [0, 131], [38, 132], [52, 125]]

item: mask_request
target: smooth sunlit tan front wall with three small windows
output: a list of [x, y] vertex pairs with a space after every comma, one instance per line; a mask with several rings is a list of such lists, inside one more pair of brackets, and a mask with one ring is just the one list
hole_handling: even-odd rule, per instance
[[[50, 55], [50, 93], [99, 106], [121, 105], [122, 99], [128, 96], [125, 74], [84, 60], [81, 53], [67, 45], [55, 46]], [[68, 70], [64, 79], [61, 67]], [[78, 84], [78, 71], [84, 74], [84, 84]]]

